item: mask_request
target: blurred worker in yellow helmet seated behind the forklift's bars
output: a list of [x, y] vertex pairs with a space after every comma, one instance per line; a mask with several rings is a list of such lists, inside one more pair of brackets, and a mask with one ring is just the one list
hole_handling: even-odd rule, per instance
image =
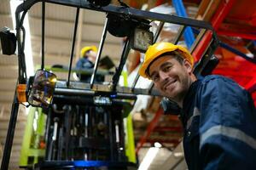
[[[87, 46], [81, 49], [81, 57], [76, 64], [76, 69], [81, 71], [92, 71], [96, 61], [97, 48], [96, 46]], [[80, 81], [90, 82], [90, 74], [77, 74]], [[104, 77], [96, 76], [96, 82], [103, 82]]]

